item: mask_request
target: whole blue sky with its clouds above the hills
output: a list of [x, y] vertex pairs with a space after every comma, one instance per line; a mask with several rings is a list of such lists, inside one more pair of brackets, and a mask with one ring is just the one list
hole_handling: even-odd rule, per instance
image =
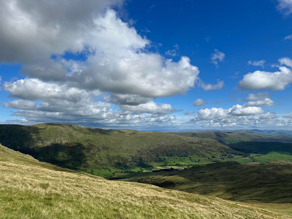
[[1, 124], [291, 129], [291, 0], [0, 4]]

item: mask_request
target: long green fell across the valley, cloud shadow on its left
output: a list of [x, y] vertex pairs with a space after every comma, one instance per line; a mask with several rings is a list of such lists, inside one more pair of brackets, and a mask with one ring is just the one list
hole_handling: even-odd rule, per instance
[[[103, 130], [65, 124], [0, 125], [0, 143], [65, 168], [111, 175], [121, 169], [198, 164], [214, 153], [235, 153], [212, 139], [135, 130]], [[202, 160], [202, 161], [203, 161]]]

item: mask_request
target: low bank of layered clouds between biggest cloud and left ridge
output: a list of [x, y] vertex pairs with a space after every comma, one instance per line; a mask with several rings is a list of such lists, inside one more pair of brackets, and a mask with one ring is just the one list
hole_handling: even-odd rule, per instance
[[[101, 96], [99, 91], [85, 91], [78, 88], [71, 88], [64, 84], [48, 83], [39, 79], [21, 79], [15, 82], [6, 82], [4, 88], [15, 98], [25, 100], [14, 100], [7, 103], [1, 103], [4, 107], [20, 109], [13, 115], [24, 117], [27, 121], [33, 122], [66, 122], [79, 121], [81, 123], [94, 124], [102, 122], [103, 125], [124, 125], [141, 122], [143, 118], [138, 118], [140, 113], [170, 114], [179, 110], [173, 109], [169, 104], [157, 104], [149, 101], [148, 98], [141, 99], [139, 96], [116, 95], [116, 102], [120, 104], [122, 112], [114, 111], [109, 107], [114, 101], [97, 102], [96, 96]], [[103, 97], [103, 99], [108, 96]], [[34, 102], [40, 100], [37, 106]], [[146, 102], [147, 101], [147, 102]], [[140, 102], [146, 102], [140, 104]], [[44, 121], [41, 118], [44, 117]], [[166, 117], [164, 117], [166, 118]], [[168, 120], [172, 119], [168, 117]], [[165, 119], [151, 120], [151, 122], [165, 121]]]

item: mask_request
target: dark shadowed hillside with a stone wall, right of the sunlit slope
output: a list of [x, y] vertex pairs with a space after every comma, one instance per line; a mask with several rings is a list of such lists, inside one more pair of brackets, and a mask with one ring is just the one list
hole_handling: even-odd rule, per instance
[[127, 181], [228, 200], [292, 203], [292, 162], [240, 164], [232, 161], [180, 171], [123, 173], [117, 176], [118, 179], [123, 177]]

